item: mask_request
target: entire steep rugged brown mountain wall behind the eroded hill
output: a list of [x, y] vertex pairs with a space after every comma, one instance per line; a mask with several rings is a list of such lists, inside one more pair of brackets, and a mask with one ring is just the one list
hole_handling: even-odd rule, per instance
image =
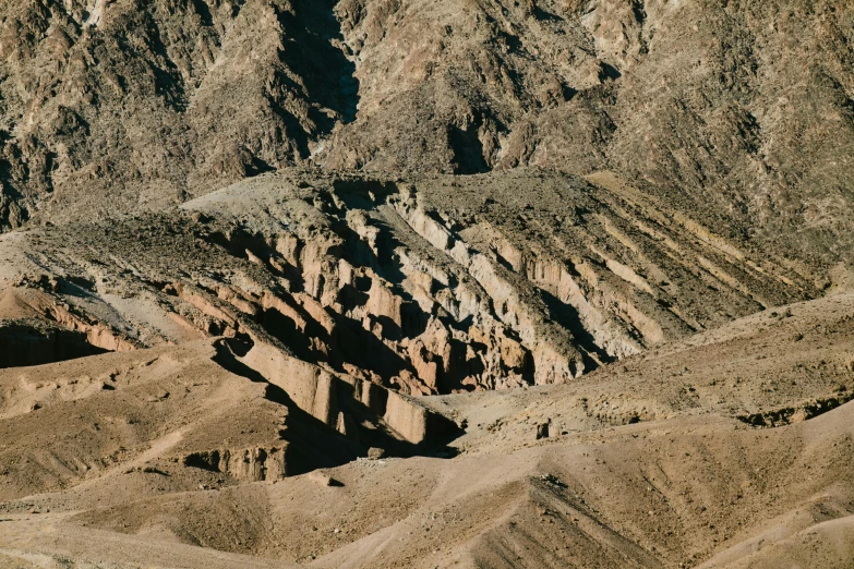
[[5, 228], [293, 164], [532, 165], [616, 170], [821, 264], [850, 251], [838, 2], [27, 0], [0, 22]]

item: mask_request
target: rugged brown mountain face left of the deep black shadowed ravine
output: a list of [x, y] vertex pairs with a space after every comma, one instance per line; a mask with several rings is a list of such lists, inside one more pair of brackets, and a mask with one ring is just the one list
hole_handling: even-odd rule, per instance
[[354, 113], [317, 2], [2, 7], [3, 223], [98, 217], [300, 161]]

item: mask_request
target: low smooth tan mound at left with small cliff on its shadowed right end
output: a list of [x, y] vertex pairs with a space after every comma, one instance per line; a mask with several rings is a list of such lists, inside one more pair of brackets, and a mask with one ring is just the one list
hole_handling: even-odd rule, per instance
[[[27, 339], [3, 336], [8, 328], [0, 329], [2, 359], [10, 339]], [[336, 434], [275, 386], [230, 366], [221, 343], [76, 353], [52, 364], [45, 350], [37, 362], [44, 365], [0, 368], [0, 497], [68, 487], [110, 470], [131, 486], [137, 477], [187, 475], [215, 485], [275, 481], [366, 453], [358, 437]], [[12, 364], [35, 363], [22, 361], [32, 353], [21, 351]], [[37, 452], [33, 437], [43, 437]]]

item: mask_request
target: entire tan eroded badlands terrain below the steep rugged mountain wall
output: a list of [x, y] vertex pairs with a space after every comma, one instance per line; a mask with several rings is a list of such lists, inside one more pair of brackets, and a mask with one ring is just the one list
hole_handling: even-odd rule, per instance
[[854, 295], [744, 246], [539, 169], [2, 235], [4, 562], [842, 567]]

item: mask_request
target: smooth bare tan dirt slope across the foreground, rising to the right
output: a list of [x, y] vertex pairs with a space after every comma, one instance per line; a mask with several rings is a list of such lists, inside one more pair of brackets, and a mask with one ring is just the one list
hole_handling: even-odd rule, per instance
[[450, 450], [325, 469], [332, 486], [96, 470], [7, 501], [0, 548], [106, 566], [264, 562], [214, 548], [316, 567], [845, 567], [851, 308], [842, 294], [747, 317], [569, 385], [426, 398], [467, 424]]

